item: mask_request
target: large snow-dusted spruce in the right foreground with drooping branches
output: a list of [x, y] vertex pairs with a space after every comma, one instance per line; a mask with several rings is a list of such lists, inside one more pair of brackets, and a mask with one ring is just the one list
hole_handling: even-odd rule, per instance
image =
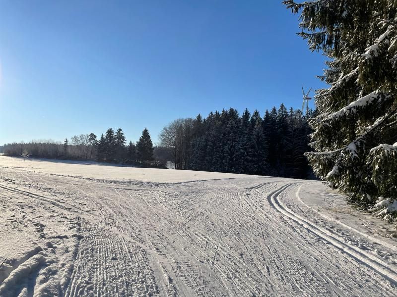
[[397, 2], [313, 0], [300, 13], [309, 49], [330, 58], [316, 91], [307, 153], [314, 172], [353, 202], [397, 217]]

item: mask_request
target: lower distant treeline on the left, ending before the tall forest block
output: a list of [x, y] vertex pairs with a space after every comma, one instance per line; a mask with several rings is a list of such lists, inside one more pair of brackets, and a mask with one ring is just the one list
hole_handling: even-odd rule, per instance
[[51, 159], [89, 160], [165, 167], [167, 154], [153, 146], [149, 131], [145, 128], [135, 143], [126, 144], [121, 128], [116, 132], [109, 128], [99, 139], [94, 133], [74, 135], [63, 143], [53, 140], [35, 140], [29, 143], [11, 143], [0, 147], [9, 156], [32, 156]]

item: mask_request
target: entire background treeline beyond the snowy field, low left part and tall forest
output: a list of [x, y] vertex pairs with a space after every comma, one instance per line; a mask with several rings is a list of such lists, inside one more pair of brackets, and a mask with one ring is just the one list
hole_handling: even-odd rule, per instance
[[[145, 128], [136, 143], [129, 142], [121, 128], [109, 128], [99, 139], [94, 133], [75, 135], [63, 143], [33, 141], [2, 147], [6, 155], [30, 155], [58, 159], [95, 159], [100, 162], [165, 167], [167, 161], [176, 169], [312, 178], [304, 153], [310, 151], [308, 135], [312, 132], [307, 109], [258, 110], [242, 115], [234, 108], [215, 111], [202, 118], [177, 119], [163, 128], [160, 146], [154, 147]], [[1, 149], [1, 148], [0, 148]]]

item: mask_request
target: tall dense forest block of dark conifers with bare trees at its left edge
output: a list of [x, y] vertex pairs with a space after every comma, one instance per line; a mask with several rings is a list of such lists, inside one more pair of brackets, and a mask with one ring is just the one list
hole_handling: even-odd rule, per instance
[[176, 169], [311, 178], [304, 153], [311, 129], [307, 118], [281, 104], [261, 117], [246, 109], [211, 112], [202, 119], [177, 119], [165, 126], [160, 144], [169, 149]]

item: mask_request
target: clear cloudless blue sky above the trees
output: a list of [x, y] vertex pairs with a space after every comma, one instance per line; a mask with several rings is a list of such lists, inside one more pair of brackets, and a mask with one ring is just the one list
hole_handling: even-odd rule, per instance
[[324, 57], [280, 2], [0, 0], [0, 143], [301, 108]]

